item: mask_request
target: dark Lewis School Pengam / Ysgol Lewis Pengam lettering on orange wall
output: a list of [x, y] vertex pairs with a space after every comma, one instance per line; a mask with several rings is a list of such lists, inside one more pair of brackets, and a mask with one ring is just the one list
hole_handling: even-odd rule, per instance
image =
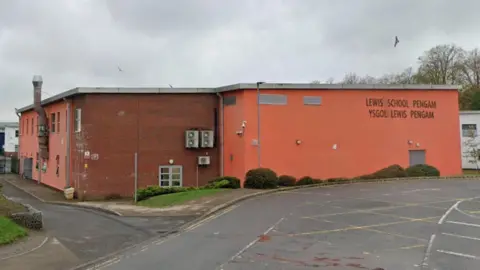
[[434, 119], [437, 109], [434, 100], [367, 98], [365, 105], [370, 118]]

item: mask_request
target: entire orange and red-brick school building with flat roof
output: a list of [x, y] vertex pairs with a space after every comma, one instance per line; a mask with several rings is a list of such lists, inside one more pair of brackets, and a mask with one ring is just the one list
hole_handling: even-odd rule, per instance
[[[35, 83], [34, 83], [35, 85]], [[219, 175], [353, 177], [399, 164], [462, 170], [458, 88], [234, 84], [85, 88], [18, 109], [21, 172], [82, 196], [197, 186]]]

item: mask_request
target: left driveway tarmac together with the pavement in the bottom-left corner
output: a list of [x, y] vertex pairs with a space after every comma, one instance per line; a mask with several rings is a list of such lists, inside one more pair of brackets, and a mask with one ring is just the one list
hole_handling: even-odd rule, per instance
[[[48, 242], [29, 253], [9, 259], [13, 269], [68, 269], [102, 256], [130, 247], [147, 239], [165, 234], [193, 220], [195, 216], [128, 218], [73, 206], [52, 205], [30, 196], [2, 181], [3, 193], [11, 199], [30, 204], [43, 212], [44, 233]], [[4, 247], [0, 248], [0, 254]], [[63, 250], [63, 251], [61, 251]], [[4, 257], [6, 249], [3, 250]], [[65, 256], [52, 256], [51, 254]], [[49, 258], [49, 261], [38, 258]], [[33, 260], [33, 261], [32, 261]], [[57, 265], [55, 268], [53, 264]], [[42, 262], [45, 265], [40, 265]], [[3, 265], [7, 260], [2, 262]], [[35, 268], [29, 268], [35, 266]]]

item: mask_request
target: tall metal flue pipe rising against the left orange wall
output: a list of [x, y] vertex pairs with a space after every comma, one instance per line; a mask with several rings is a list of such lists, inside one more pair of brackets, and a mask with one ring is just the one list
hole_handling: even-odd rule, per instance
[[42, 159], [48, 159], [48, 119], [45, 109], [42, 107], [43, 79], [40, 75], [33, 76], [33, 109], [38, 115], [38, 148]]

